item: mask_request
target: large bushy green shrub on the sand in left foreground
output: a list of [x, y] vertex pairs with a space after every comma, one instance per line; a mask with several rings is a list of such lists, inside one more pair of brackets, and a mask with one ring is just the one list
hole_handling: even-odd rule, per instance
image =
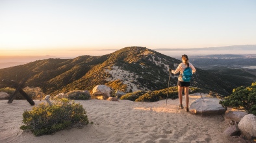
[[[83, 105], [70, 102], [67, 98], [56, 100], [53, 105], [45, 103], [24, 111], [20, 129], [31, 129], [35, 136], [49, 135], [68, 126], [89, 124]], [[92, 122], [91, 122], [92, 124]]]

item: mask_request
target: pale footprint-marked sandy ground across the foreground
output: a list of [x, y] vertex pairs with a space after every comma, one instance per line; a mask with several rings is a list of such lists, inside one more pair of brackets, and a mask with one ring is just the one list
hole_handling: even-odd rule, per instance
[[[183, 96], [184, 97], [184, 96]], [[190, 95], [190, 103], [199, 94]], [[183, 98], [183, 105], [185, 99]], [[131, 102], [119, 100], [75, 100], [86, 110], [93, 125], [34, 137], [19, 129], [22, 114], [33, 106], [27, 100], [0, 100], [0, 142], [227, 142], [222, 132], [229, 126], [222, 115], [193, 115], [179, 109], [178, 100]], [[34, 100], [36, 105], [45, 100]]]

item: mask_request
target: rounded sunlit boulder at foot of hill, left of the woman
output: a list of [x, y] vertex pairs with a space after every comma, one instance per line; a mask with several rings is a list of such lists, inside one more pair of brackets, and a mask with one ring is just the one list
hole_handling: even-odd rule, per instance
[[107, 100], [110, 97], [112, 90], [110, 87], [106, 85], [96, 85], [94, 89], [92, 89], [92, 96], [97, 99]]

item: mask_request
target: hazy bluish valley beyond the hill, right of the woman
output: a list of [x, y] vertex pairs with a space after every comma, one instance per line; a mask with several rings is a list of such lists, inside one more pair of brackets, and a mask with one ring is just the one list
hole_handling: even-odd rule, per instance
[[196, 67], [204, 69], [237, 87], [256, 81], [256, 54], [212, 54], [190, 56]]

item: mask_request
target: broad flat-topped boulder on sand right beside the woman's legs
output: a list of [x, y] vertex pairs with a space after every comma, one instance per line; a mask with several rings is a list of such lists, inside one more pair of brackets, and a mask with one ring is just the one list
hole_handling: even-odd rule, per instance
[[219, 102], [217, 98], [198, 98], [190, 104], [190, 112], [201, 115], [223, 114], [227, 109]]

